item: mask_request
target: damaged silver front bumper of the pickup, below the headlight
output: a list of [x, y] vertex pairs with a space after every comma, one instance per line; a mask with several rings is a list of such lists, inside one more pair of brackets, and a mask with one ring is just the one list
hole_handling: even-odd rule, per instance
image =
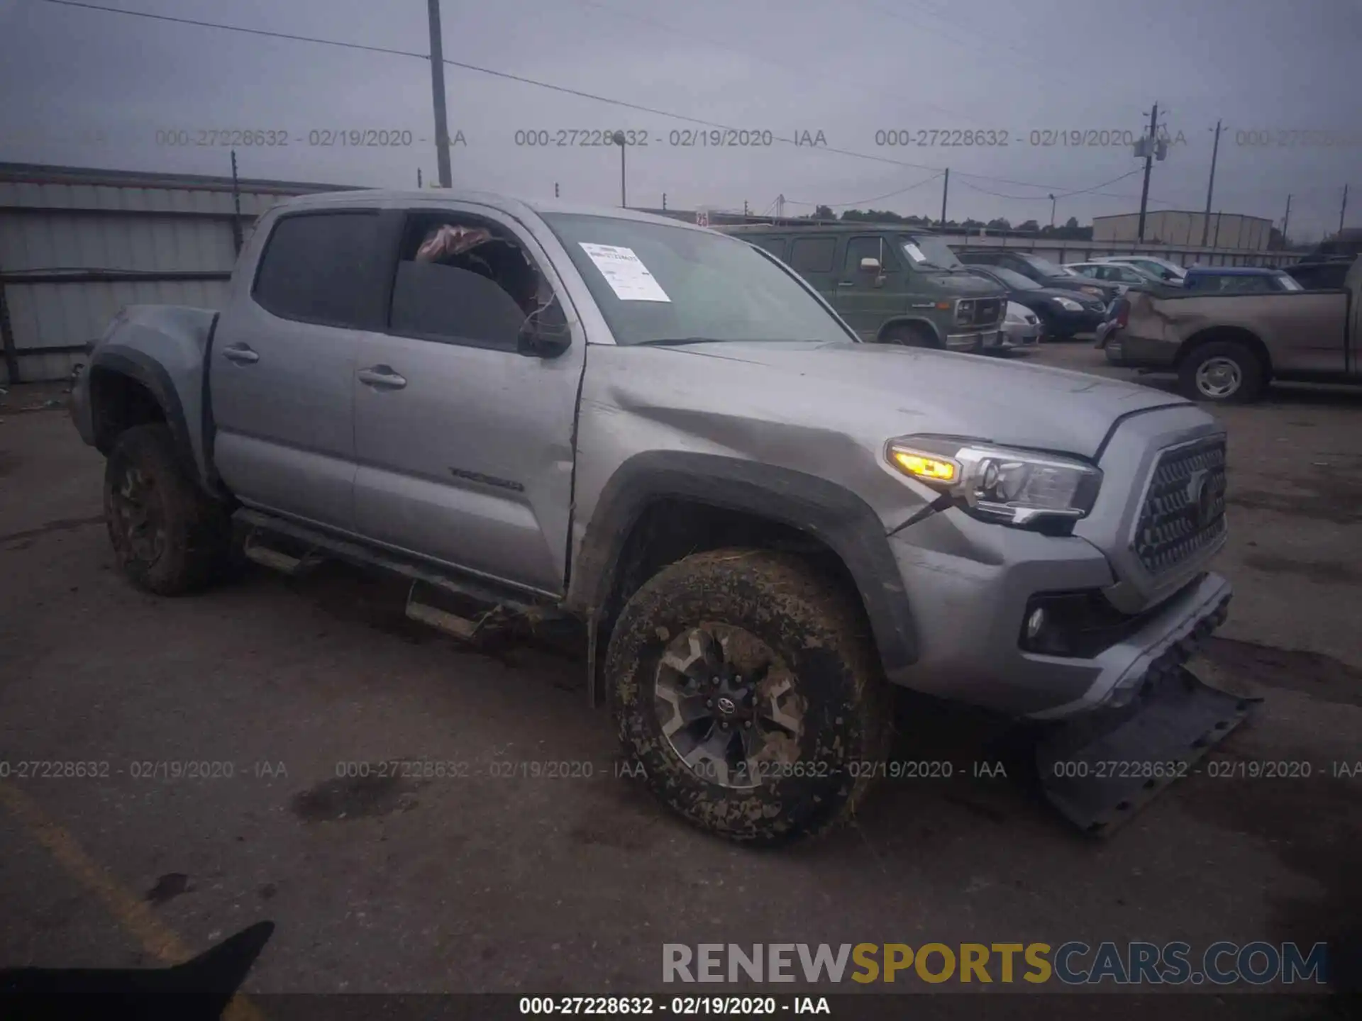
[[919, 647], [918, 660], [891, 681], [1011, 716], [1060, 719], [1128, 702], [1150, 677], [1196, 651], [1224, 619], [1231, 595], [1229, 581], [1207, 573], [1091, 658], [1041, 655], [1020, 644], [1027, 600], [1110, 587], [1111, 568], [1094, 545], [948, 509], [893, 535], [889, 546]]

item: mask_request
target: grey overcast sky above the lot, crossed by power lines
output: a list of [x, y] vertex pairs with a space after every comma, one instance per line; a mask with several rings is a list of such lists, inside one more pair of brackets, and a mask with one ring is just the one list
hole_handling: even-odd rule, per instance
[[[95, 3], [429, 53], [425, 0]], [[952, 219], [1047, 223], [1054, 192], [1057, 221], [1086, 223], [1139, 208], [1141, 162], [1121, 144], [1032, 146], [1032, 132], [1120, 142], [1147, 127], [1158, 101], [1174, 144], [1155, 163], [1151, 208], [1204, 207], [1222, 118], [1214, 208], [1280, 226], [1291, 193], [1291, 234], [1308, 240], [1337, 227], [1350, 182], [1348, 223], [1362, 223], [1359, 0], [443, 0], [441, 10], [447, 60], [661, 112], [447, 67], [460, 187], [535, 197], [557, 184], [564, 197], [617, 204], [618, 148], [518, 146], [516, 132], [557, 143], [560, 131], [624, 128], [647, 133], [647, 147], [627, 154], [631, 206], [661, 206], [666, 193], [676, 208], [768, 211], [785, 195], [790, 214], [824, 203], [938, 216], [934, 176], [949, 166]], [[418, 169], [436, 174], [429, 63], [414, 56], [0, 0], [0, 161], [227, 174], [226, 148], [165, 142], [248, 129], [287, 133], [287, 146], [238, 147], [242, 177], [413, 187]], [[666, 114], [770, 132], [772, 143], [671, 144], [704, 127]], [[398, 132], [399, 143], [410, 132], [410, 144], [309, 144], [364, 129]], [[933, 129], [938, 142], [992, 131], [997, 143], [1005, 132], [1008, 146], [880, 144], [891, 140], [883, 132], [915, 143]], [[1306, 131], [1336, 144], [1287, 133]], [[778, 140], [805, 137], [819, 144]]]

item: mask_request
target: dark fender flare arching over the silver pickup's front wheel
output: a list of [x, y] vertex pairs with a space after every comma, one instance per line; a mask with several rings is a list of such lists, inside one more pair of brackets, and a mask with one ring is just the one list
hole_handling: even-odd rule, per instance
[[602, 489], [577, 546], [569, 607], [592, 614], [605, 606], [633, 525], [650, 504], [666, 498], [756, 515], [819, 539], [855, 581], [884, 668], [917, 662], [908, 596], [884, 523], [870, 505], [816, 475], [740, 457], [648, 451], [621, 464]]

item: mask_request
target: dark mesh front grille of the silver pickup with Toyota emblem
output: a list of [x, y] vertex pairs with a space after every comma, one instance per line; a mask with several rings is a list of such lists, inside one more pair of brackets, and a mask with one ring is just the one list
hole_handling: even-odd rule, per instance
[[1175, 568], [1224, 534], [1224, 438], [1165, 451], [1135, 527], [1135, 554], [1152, 574]]

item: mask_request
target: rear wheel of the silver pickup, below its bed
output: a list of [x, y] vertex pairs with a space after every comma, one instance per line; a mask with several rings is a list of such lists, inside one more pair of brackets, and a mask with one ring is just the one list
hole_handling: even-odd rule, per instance
[[202, 588], [227, 560], [226, 508], [180, 467], [163, 423], [118, 436], [105, 466], [104, 515], [118, 566], [148, 592]]

